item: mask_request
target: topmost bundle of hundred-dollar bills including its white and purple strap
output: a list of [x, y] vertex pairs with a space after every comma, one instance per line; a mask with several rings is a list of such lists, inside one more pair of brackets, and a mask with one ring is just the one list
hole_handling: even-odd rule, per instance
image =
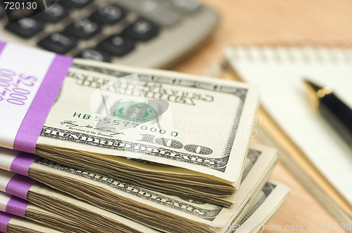
[[1, 147], [160, 192], [236, 192], [257, 107], [249, 84], [0, 41]]

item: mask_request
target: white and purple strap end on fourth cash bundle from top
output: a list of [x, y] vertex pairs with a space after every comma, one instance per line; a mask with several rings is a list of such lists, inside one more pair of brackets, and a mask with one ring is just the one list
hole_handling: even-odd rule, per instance
[[20, 199], [5, 192], [0, 192], [0, 211], [25, 217], [25, 209], [29, 204], [29, 201]]

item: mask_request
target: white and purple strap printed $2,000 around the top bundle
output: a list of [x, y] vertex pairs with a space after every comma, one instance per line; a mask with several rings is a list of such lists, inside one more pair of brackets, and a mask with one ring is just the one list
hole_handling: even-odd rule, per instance
[[0, 41], [0, 147], [34, 153], [73, 58]]

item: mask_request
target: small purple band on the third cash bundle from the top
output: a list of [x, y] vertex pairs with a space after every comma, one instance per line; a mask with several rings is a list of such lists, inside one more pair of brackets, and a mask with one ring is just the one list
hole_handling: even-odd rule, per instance
[[6, 185], [6, 192], [15, 197], [26, 199], [27, 192], [35, 183], [35, 180], [24, 175], [15, 174]]

